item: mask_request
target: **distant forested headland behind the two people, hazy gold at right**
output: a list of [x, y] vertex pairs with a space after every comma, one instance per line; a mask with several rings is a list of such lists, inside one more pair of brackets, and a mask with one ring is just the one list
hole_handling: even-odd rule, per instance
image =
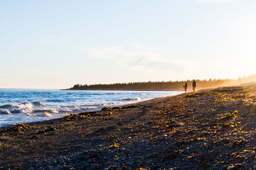
[[[210, 79], [196, 80], [196, 90], [208, 89], [232, 85], [240, 85], [256, 80], [256, 74], [244, 76], [243, 78], [234, 79]], [[192, 81], [148, 81], [148, 82], [131, 82], [131, 83], [113, 83], [113, 84], [96, 84], [96, 85], [74, 85], [68, 90], [184, 90], [183, 85], [188, 83], [188, 90], [192, 89]]]

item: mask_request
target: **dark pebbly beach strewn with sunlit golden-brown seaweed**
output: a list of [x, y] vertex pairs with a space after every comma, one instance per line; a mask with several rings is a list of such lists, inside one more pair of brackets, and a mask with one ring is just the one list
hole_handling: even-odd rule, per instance
[[1, 169], [255, 169], [256, 85], [0, 128]]

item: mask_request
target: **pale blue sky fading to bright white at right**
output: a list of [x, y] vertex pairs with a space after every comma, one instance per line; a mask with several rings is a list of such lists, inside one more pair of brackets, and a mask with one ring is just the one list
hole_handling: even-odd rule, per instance
[[0, 89], [256, 73], [255, 0], [0, 1]]

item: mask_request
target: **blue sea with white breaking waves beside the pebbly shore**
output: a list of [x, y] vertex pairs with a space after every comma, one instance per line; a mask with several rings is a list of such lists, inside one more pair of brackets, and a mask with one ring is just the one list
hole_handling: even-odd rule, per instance
[[0, 127], [60, 118], [70, 113], [122, 106], [180, 91], [0, 89]]

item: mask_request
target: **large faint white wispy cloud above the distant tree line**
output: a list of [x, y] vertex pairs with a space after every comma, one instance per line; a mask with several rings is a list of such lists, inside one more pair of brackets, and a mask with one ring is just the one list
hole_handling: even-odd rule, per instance
[[187, 72], [189, 71], [188, 66], [195, 66], [195, 62], [188, 59], [177, 59], [177, 56], [166, 55], [163, 51], [161, 48], [133, 44], [129, 47], [90, 49], [90, 55], [116, 62], [124, 69], [143, 73], [175, 74], [180, 71]]

